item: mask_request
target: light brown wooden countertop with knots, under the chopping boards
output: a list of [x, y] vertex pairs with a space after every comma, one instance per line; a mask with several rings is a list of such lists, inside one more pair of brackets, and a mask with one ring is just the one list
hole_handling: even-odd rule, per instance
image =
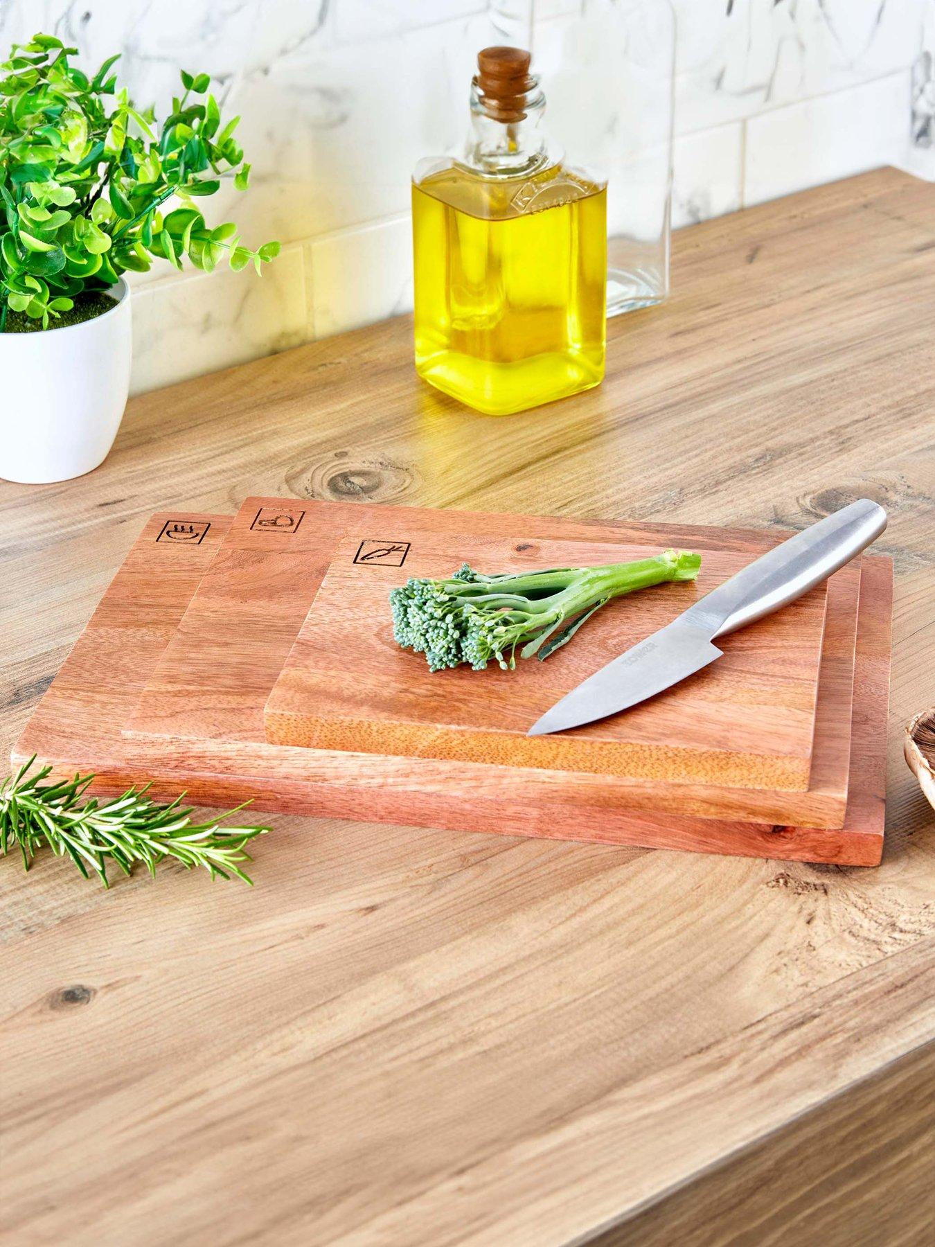
[[254, 889], [0, 862], [17, 1243], [924, 1237], [935, 828], [900, 733], [935, 702], [935, 186], [868, 173], [673, 253], [576, 399], [458, 408], [403, 318], [136, 399], [81, 480], [0, 483], [4, 752], [156, 509], [755, 527], [868, 495], [896, 567], [884, 864], [287, 817]]

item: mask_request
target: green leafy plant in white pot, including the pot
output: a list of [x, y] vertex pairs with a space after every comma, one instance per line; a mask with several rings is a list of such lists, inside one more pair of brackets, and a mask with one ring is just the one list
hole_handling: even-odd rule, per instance
[[91, 471], [117, 434], [130, 384], [123, 273], [187, 257], [259, 272], [279, 244], [244, 247], [194, 202], [249, 165], [207, 74], [157, 122], [111, 72], [89, 77], [51, 35], [0, 66], [0, 476], [39, 484]]

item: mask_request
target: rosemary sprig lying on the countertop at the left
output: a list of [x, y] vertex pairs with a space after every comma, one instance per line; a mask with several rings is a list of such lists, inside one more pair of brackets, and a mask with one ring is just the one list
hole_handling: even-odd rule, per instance
[[146, 796], [146, 784], [101, 804], [96, 797], [85, 797], [94, 774], [42, 783], [52, 768], [42, 767], [30, 776], [34, 762], [35, 757], [30, 758], [0, 783], [0, 854], [19, 845], [26, 870], [36, 849], [47, 844], [59, 857], [67, 853], [86, 879], [96, 874], [105, 888], [110, 887], [107, 865], [116, 864], [130, 874], [133, 864], [142, 862], [155, 874], [165, 858], [175, 858], [189, 870], [204, 867], [212, 879], [236, 875], [253, 883], [237, 863], [251, 860], [244, 845], [269, 828], [219, 826], [243, 806], [222, 814], [217, 823], [193, 824], [192, 809], [182, 808], [182, 797], [161, 806]]

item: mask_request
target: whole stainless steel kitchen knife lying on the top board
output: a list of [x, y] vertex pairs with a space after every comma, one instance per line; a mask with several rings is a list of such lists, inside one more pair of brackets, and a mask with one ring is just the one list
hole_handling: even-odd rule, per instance
[[886, 513], [863, 498], [783, 541], [687, 611], [588, 676], [534, 723], [530, 736], [563, 732], [617, 715], [694, 675], [722, 651], [714, 637], [794, 602], [860, 554], [886, 527]]

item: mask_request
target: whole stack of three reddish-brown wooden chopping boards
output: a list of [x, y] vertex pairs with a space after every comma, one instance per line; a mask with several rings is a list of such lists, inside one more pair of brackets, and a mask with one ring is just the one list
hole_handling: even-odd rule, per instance
[[[251, 498], [148, 521], [14, 751], [100, 791], [459, 831], [873, 865], [891, 564], [863, 556], [632, 711], [529, 737], [559, 697], [788, 534]], [[547, 662], [430, 673], [409, 576], [668, 546], [697, 584], [611, 602]]]

